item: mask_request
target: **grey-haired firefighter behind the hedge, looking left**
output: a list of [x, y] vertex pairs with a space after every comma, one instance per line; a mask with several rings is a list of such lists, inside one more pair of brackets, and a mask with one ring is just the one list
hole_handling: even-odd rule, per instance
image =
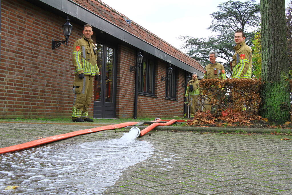
[[[219, 64], [216, 62], [218, 54], [216, 52], [210, 52], [209, 53], [209, 60], [210, 64], [206, 66], [204, 79], [226, 79], [225, 70], [222, 64]], [[212, 108], [212, 99], [214, 97], [212, 95], [208, 95], [207, 99], [210, 99], [210, 101], [205, 100], [205, 110], [211, 110]]]

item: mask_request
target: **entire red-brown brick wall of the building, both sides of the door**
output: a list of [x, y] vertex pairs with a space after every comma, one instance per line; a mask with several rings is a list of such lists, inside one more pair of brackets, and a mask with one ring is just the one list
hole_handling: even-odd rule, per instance
[[[2, 0], [0, 118], [70, 118], [74, 81], [71, 52], [74, 41], [82, 37], [82, 26], [73, 25], [68, 46], [52, 50], [51, 39], [65, 40], [62, 25], [66, 18], [27, 1]], [[95, 39], [92, 36], [93, 40]], [[132, 118], [134, 108], [135, 49], [118, 46], [117, 52], [117, 118]], [[183, 115], [184, 72], [178, 69], [177, 100], [165, 99], [166, 62], [158, 60], [155, 96], [138, 95], [141, 117]], [[93, 116], [93, 103], [89, 108]]]

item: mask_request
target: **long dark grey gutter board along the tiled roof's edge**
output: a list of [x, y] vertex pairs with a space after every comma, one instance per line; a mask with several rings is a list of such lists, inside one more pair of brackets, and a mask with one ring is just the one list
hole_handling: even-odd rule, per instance
[[[71, 15], [74, 18], [77, 18], [87, 24], [92, 25], [93, 27], [100, 29], [101, 31], [110, 34], [117, 39], [125, 41], [126, 43], [135, 46], [142, 51], [150, 53], [157, 58], [160, 58], [166, 62], [169, 62], [181, 69], [184, 69], [187, 72], [197, 72], [198, 76], [203, 76], [204, 73], [200, 70], [195, 69], [194, 67], [186, 64], [173, 57], [172, 55], [165, 53], [161, 49], [153, 46], [152, 44], [140, 39], [139, 37], [127, 32], [123, 28], [105, 20], [101, 16], [93, 13], [92, 11], [80, 6], [72, 0], [39, 0], [40, 2], [47, 4], [53, 8], [56, 8], [68, 15]], [[145, 44], [146, 43], [146, 44]]]

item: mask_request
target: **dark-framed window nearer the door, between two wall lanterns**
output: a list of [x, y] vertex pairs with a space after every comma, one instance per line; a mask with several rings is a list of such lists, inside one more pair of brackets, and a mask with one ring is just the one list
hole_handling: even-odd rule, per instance
[[139, 94], [154, 96], [154, 60], [144, 57], [141, 68], [138, 69], [138, 92]]

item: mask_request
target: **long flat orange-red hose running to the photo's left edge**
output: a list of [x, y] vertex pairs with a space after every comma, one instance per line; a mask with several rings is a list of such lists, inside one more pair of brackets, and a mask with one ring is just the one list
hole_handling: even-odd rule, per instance
[[79, 131], [72, 131], [70, 133], [54, 135], [54, 136], [51, 136], [51, 137], [45, 137], [45, 138], [42, 138], [42, 139], [39, 139], [39, 140], [34, 140], [34, 141], [26, 142], [26, 143], [23, 143], [23, 144], [9, 146], [9, 147], [5, 147], [5, 148], [0, 148], [0, 154], [6, 153], [6, 152], [13, 152], [13, 151], [21, 150], [21, 149], [26, 149], [26, 148], [38, 146], [38, 145], [41, 145], [41, 144], [47, 144], [47, 143], [55, 142], [55, 141], [58, 141], [58, 140], [64, 140], [66, 138], [74, 137], [74, 136], [77, 136], [77, 135], [83, 135], [83, 134], [93, 133], [93, 132], [98, 132], [98, 131], [103, 131], [103, 130], [111, 130], [111, 129], [123, 128], [123, 127], [126, 127], [126, 126], [135, 125], [137, 123], [139, 123], [139, 122], [119, 123], [119, 124], [115, 124], [115, 125], [107, 125], [107, 126], [96, 127], [96, 128], [92, 128], [92, 129], [84, 129], [84, 130], [79, 130]]

